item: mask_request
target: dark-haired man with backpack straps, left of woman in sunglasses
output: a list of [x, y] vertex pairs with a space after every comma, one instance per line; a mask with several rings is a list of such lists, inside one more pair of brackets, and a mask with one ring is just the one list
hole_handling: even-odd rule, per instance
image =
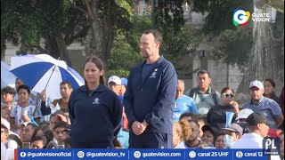
[[210, 108], [221, 104], [221, 97], [211, 88], [211, 76], [207, 70], [198, 72], [197, 82], [198, 86], [191, 89], [189, 97], [194, 100], [199, 114], [207, 115]]

